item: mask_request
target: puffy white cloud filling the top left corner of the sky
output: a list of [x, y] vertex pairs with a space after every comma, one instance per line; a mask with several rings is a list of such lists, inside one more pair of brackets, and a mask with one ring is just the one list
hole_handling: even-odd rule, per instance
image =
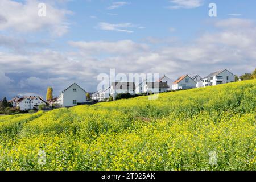
[[11, 0], [0, 1], [0, 30], [35, 32], [47, 30], [55, 36], [62, 36], [68, 31], [65, 18], [70, 11], [56, 9], [46, 4], [46, 17], [38, 16], [39, 1], [28, 0], [24, 3]]

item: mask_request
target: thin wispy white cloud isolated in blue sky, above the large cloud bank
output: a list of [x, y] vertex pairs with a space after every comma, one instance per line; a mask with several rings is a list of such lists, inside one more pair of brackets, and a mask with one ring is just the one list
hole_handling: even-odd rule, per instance
[[118, 31], [118, 32], [126, 32], [126, 33], [133, 33], [131, 30], [127, 30], [126, 28], [135, 27], [132, 23], [118, 23], [118, 24], [111, 24], [106, 22], [98, 23], [98, 28], [101, 30], [107, 31]]

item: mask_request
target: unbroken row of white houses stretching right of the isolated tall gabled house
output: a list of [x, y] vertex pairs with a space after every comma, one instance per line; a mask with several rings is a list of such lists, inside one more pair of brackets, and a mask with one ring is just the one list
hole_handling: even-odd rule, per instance
[[166, 75], [164, 75], [156, 82], [144, 80], [136, 86], [134, 82], [112, 82], [108, 89], [98, 90], [97, 92], [93, 93], [92, 99], [97, 101], [104, 101], [110, 96], [115, 99], [117, 94], [121, 93], [129, 93], [131, 95], [162, 93], [170, 90], [185, 90], [219, 84], [227, 84], [234, 81], [235, 75], [226, 69], [210, 73], [206, 77], [201, 77], [199, 75], [193, 77], [183, 75], [174, 82]]

